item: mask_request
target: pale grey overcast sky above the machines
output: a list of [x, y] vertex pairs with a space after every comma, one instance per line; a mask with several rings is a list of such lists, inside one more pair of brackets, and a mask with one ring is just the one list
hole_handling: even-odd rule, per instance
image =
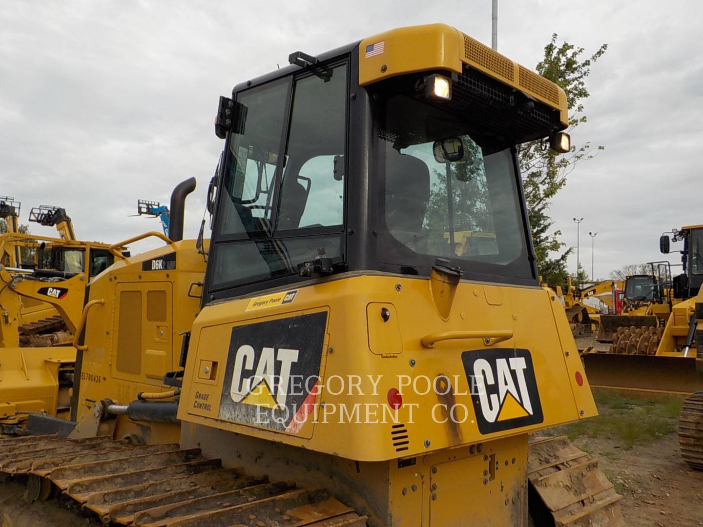
[[[79, 238], [113, 242], [156, 220], [190, 176], [186, 236], [200, 226], [222, 148], [219, 95], [285, 65], [392, 27], [446, 22], [490, 45], [491, 1], [0, 1], [0, 195], [63, 206]], [[697, 0], [500, 0], [498, 49], [534, 68], [550, 35], [595, 51], [582, 162], [551, 214], [595, 275], [659, 259], [663, 230], [703, 223], [703, 3]], [[35, 233], [53, 230], [32, 224]], [[141, 248], [139, 246], [138, 248]], [[143, 247], [143, 248], [148, 248]], [[672, 261], [674, 258], [672, 258]], [[570, 269], [575, 270], [572, 258]]]

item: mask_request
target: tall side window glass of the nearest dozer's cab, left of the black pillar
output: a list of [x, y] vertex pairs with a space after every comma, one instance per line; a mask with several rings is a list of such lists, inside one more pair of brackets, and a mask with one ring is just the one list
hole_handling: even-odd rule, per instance
[[295, 275], [320, 252], [343, 259], [347, 65], [326, 73], [238, 94], [246, 121], [228, 145], [209, 289]]

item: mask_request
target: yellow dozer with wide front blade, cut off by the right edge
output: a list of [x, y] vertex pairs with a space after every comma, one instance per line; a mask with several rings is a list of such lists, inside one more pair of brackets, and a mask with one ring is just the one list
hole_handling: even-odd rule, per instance
[[[584, 351], [583, 364], [592, 386], [645, 396], [687, 396], [703, 389], [699, 362], [703, 353], [697, 351], [702, 345], [697, 333], [697, 306], [703, 301], [699, 290], [703, 278], [699, 276], [703, 273], [703, 261], [699, 260], [703, 226], [684, 227], [674, 232], [676, 240], [684, 240], [683, 273], [674, 276], [669, 283], [653, 282], [654, 275], [648, 277], [652, 280], [646, 282], [644, 289], [658, 289], [671, 299], [671, 307], [668, 301], [655, 304], [669, 308], [664, 325], [657, 323], [659, 315], [652, 315], [655, 320], [650, 325], [619, 327], [609, 352]], [[662, 237], [660, 245], [662, 252], [669, 252], [667, 236]]]

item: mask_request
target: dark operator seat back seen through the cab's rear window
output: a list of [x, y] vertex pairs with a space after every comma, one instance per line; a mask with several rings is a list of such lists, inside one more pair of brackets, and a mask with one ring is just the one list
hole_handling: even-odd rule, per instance
[[427, 252], [422, 234], [430, 201], [430, 169], [417, 157], [389, 148], [386, 154], [386, 226], [414, 252]]

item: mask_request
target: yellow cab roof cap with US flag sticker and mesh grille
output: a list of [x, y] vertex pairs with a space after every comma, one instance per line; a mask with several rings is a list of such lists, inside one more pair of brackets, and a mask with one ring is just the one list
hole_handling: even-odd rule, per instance
[[359, 84], [430, 70], [461, 73], [463, 63], [559, 110], [562, 125], [568, 126], [567, 98], [560, 86], [444, 24], [400, 27], [363, 39]]

